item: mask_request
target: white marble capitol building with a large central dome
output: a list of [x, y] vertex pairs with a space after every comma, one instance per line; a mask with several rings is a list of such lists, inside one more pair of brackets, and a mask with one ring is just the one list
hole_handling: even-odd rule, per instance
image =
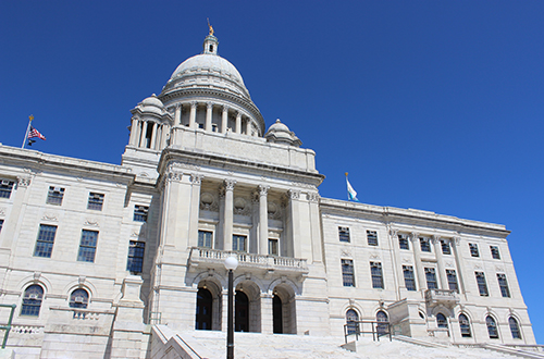
[[504, 225], [320, 197], [319, 153], [267, 127], [218, 48], [121, 120], [121, 164], [0, 145], [7, 348], [162, 358], [164, 327], [226, 331], [231, 256], [236, 332], [535, 344]]

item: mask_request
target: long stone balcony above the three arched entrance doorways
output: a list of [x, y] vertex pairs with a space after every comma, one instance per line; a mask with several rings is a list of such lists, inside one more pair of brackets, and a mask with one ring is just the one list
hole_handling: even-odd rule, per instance
[[211, 248], [193, 247], [189, 255], [189, 267], [224, 269], [225, 259], [236, 257], [238, 259], [238, 269], [257, 270], [264, 273], [276, 273], [286, 275], [304, 275], [309, 272], [306, 259], [263, 256], [239, 251], [220, 250]]

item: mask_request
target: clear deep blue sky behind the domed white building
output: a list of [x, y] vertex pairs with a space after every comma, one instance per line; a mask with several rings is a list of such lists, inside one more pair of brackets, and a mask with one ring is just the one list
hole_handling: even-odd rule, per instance
[[120, 163], [131, 113], [201, 51], [317, 152], [321, 196], [506, 224], [539, 343], [543, 1], [2, 1], [0, 143]]

